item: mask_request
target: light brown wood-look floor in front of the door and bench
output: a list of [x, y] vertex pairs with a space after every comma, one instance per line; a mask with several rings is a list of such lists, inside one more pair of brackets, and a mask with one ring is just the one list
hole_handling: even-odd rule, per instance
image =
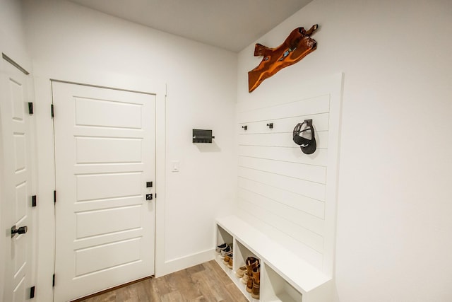
[[107, 291], [83, 302], [247, 302], [214, 260]]

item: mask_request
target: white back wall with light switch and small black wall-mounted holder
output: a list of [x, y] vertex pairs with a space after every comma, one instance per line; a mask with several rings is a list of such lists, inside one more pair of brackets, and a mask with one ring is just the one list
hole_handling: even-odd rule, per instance
[[[45, 69], [70, 80], [82, 66], [167, 83], [166, 198], [157, 192], [156, 200], [165, 202], [157, 216], [165, 219], [165, 246], [157, 246], [165, 264], [157, 273], [213, 257], [214, 219], [232, 212], [234, 197], [237, 54], [66, 1], [25, 1], [25, 24], [38, 76]], [[192, 144], [193, 128], [213, 129], [215, 143]]]

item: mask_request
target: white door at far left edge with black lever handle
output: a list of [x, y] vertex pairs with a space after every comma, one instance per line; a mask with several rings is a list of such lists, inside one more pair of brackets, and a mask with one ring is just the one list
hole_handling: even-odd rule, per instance
[[[1, 120], [1, 229], [0, 248], [5, 256], [3, 300], [25, 301], [30, 298], [32, 286], [33, 239], [35, 230], [32, 214], [32, 162], [30, 146], [31, 102], [28, 76], [6, 64], [1, 73], [0, 120]], [[16, 226], [20, 233], [11, 234]], [[26, 233], [23, 233], [25, 232]], [[2, 269], [3, 270], [3, 269]], [[1, 291], [0, 291], [1, 292]]]

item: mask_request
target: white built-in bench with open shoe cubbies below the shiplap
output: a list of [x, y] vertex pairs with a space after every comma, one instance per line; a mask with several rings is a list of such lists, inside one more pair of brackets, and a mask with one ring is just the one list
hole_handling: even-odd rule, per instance
[[[216, 221], [217, 245], [232, 243], [234, 260], [232, 269], [223, 264], [220, 255], [215, 260], [242, 290], [249, 301], [332, 301], [333, 280], [310, 265], [294, 252], [287, 250], [264, 233], [237, 216], [227, 216]], [[246, 257], [261, 261], [261, 295], [251, 298], [246, 285], [235, 272], [245, 264]]]

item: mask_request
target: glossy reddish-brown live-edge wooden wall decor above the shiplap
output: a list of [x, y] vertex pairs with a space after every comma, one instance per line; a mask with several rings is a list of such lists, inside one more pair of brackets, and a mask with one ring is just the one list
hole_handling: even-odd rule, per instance
[[273, 74], [284, 67], [299, 62], [307, 54], [316, 50], [317, 42], [311, 38], [319, 25], [312, 25], [309, 30], [295, 28], [285, 39], [282, 45], [269, 48], [259, 43], [254, 47], [254, 57], [261, 57], [261, 63], [255, 69], [248, 72], [248, 91], [254, 91], [263, 80], [270, 78]]

